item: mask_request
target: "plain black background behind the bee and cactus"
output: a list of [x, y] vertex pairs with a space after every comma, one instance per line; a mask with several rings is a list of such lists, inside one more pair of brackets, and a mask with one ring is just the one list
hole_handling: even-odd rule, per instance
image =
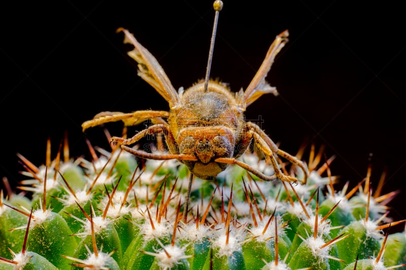
[[[325, 145], [327, 157], [336, 156], [332, 174], [350, 188], [366, 176], [372, 153], [373, 187], [387, 167], [384, 193], [403, 191], [390, 216], [406, 218], [403, 9], [391, 1], [280, 2], [224, 1], [211, 76], [245, 89], [275, 36], [289, 29], [267, 77], [280, 96], [261, 97], [247, 119], [260, 115], [288, 152], [306, 139]], [[72, 157], [87, 153], [81, 123], [97, 112], [168, 109], [137, 76], [118, 27], [134, 33], [178, 89], [205, 76], [213, 18], [212, 1], [2, 3], [0, 176], [14, 185], [24, 179], [17, 152], [43, 164], [48, 137], [54, 158], [64, 131]], [[108, 127], [120, 135], [120, 126]], [[87, 136], [109, 147], [100, 128]]]

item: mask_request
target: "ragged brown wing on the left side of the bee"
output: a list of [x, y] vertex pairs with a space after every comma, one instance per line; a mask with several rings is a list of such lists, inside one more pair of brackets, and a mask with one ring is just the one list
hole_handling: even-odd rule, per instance
[[124, 32], [124, 43], [129, 43], [134, 46], [134, 50], [128, 52], [138, 63], [138, 75], [147, 83], [149, 83], [156, 91], [169, 103], [172, 108], [179, 102], [179, 95], [172, 86], [171, 81], [166, 76], [165, 71], [159, 65], [155, 57], [148, 52], [136, 38], [124, 28], [118, 28], [117, 32]]

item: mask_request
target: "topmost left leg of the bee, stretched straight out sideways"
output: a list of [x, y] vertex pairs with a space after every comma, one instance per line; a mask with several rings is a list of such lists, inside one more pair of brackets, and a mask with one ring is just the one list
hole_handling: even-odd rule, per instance
[[126, 126], [134, 126], [153, 118], [166, 118], [169, 112], [161, 110], [138, 110], [130, 113], [119, 111], [103, 111], [94, 115], [92, 120], [83, 122], [82, 129], [95, 127], [104, 123], [123, 121]]

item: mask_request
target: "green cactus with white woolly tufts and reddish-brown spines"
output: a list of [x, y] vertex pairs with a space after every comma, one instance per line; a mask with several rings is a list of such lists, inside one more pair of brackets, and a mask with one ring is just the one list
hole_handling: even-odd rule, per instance
[[[191, 179], [185, 213], [184, 165], [90, 143], [92, 161], [71, 159], [65, 144], [39, 167], [19, 155], [29, 196], [1, 192], [1, 269], [406, 269], [406, 232], [389, 234], [404, 220], [388, 222], [385, 207], [397, 192], [373, 194], [370, 167], [347, 192], [314, 147], [305, 185], [231, 166]], [[241, 159], [273, 173], [255, 153]]]

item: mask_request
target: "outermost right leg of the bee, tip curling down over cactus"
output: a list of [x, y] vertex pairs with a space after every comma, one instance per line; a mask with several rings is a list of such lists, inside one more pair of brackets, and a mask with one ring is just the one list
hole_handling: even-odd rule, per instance
[[[266, 135], [265, 132], [254, 123], [248, 122], [247, 128], [249, 129], [247, 135], [250, 131], [253, 132], [254, 134], [253, 137], [255, 139], [255, 142], [257, 143], [257, 146], [261, 149], [261, 151], [265, 155], [268, 155], [267, 152], [272, 151], [277, 155], [287, 159], [292, 164], [297, 165], [303, 171], [304, 174], [301, 183], [306, 184], [307, 178], [309, 176], [309, 169], [306, 166], [306, 164], [304, 164], [304, 162], [290, 155], [289, 153], [279, 149], [278, 146], [272, 141], [272, 139], [270, 139], [269, 136]], [[275, 167], [275, 165], [277, 165], [275, 158], [274, 159], [271, 158], [270, 160], [272, 162], [274, 169], [278, 168], [278, 166]], [[273, 162], [273, 160], [275, 161], [275, 163]]]

